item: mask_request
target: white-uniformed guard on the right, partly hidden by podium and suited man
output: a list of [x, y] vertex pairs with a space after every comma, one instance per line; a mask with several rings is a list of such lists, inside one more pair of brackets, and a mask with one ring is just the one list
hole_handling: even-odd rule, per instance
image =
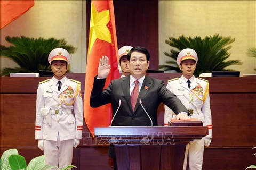
[[[182, 70], [182, 76], [168, 81], [167, 89], [173, 92], [188, 109], [191, 118], [203, 121], [209, 129], [209, 134], [201, 140], [194, 140], [186, 147], [183, 170], [199, 170], [203, 166], [204, 146], [209, 146], [212, 137], [212, 117], [210, 109], [209, 83], [207, 80], [196, 78], [193, 74], [197, 64], [197, 54], [193, 49], [183, 49], [177, 57], [177, 64]], [[168, 125], [175, 113], [165, 105], [164, 124]]]

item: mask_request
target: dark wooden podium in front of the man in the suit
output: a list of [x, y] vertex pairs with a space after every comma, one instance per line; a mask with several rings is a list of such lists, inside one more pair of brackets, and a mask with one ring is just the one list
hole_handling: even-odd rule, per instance
[[188, 142], [208, 134], [203, 126], [111, 126], [95, 128], [102, 143], [113, 143], [118, 170], [179, 170]]

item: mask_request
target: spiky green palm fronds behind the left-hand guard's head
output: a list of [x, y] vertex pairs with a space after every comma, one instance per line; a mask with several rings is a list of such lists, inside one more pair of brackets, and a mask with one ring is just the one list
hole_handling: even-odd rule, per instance
[[75, 53], [77, 49], [72, 45], [68, 45], [64, 39], [6, 36], [5, 40], [12, 45], [9, 47], [0, 46], [1, 57], [10, 58], [20, 67], [3, 68], [1, 76], [9, 76], [10, 73], [38, 73], [39, 70], [51, 70], [48, 63], [48, 55], [52, 49], [64, 48], [69, 53]]

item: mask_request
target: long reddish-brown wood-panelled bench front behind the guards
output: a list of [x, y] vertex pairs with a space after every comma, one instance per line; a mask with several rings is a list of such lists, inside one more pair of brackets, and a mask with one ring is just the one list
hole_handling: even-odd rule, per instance
[[[150, 77], [167, 80], [180, 74], [149, 73]], [[67, 73], [68, 78], [81, 81], [84, 94], [84, 73]], [[17, 148], [27, 163], [43, 152], [35, 140], [36, 90], [46, 78], [0, 78], [1, 139], [0, 154]], [[252, 150], [256, 141], [256, 78], [207, 78], [210, 82], [213, 136], [205, 149], [204, 169], [244, 169], [256, 164]], [[158, 108], [158, 125], [163, 125], [164, 105]], [[92, 138], [86, 124], [83, 140], [74, 150], [73, 165], [78, 169], [111, 169], [108, 145]], [[246, 159], [244, 159], [246, 158]], [[253, 159], [254, 158], [254, 159]], [[218, 168], [215, 168], [216, 165]]]

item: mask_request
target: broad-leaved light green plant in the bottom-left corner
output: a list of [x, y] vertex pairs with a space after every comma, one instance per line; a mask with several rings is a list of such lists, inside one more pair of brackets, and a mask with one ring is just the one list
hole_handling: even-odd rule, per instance
[[66, 167], [58, 168], [55, 166], [47, 165], [45, 155], [33, 158], [27, 166], [25, 158], [19, 155], [17, 149], [6, 150], [1, 156], [0, 163], [1, 170], [47, 170], [51, 168], [66, 170], [75, 167], [74, 165], [68, 165]]

